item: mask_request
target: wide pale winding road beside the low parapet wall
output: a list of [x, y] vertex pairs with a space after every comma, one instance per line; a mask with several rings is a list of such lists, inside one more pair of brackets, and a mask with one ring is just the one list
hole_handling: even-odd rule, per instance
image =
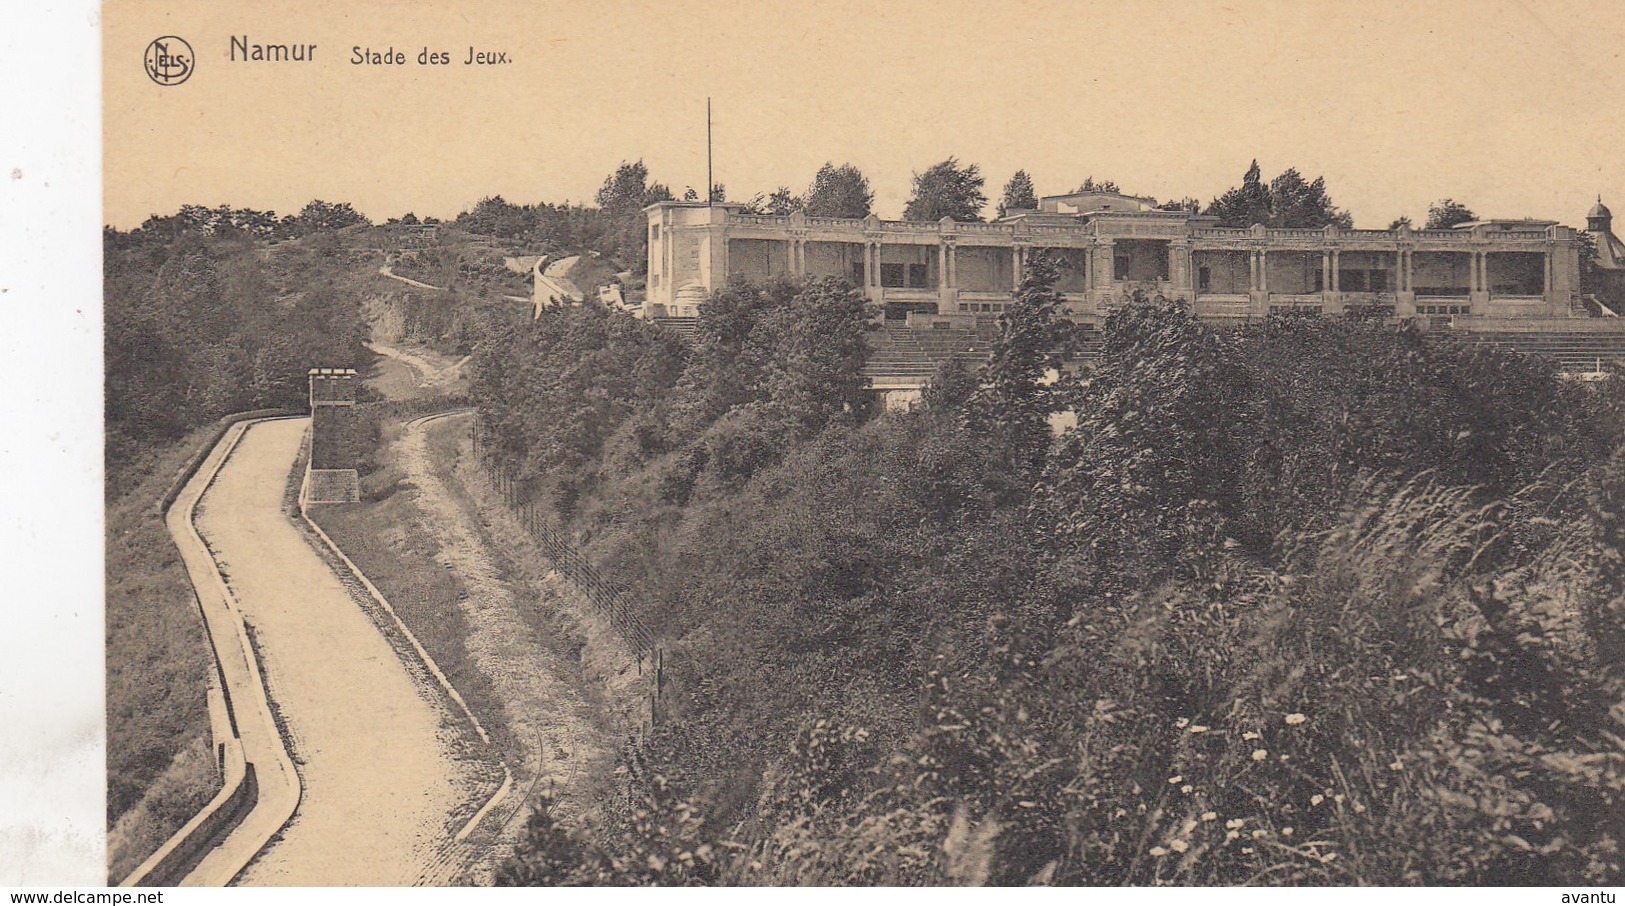
[[447, 883], [483, 800], [442, 700], [403, 664], [284, 511], [306, 419], [260, 422], [203, 495], [197, 526], [252, 627], [304, 794], [245, 885]]

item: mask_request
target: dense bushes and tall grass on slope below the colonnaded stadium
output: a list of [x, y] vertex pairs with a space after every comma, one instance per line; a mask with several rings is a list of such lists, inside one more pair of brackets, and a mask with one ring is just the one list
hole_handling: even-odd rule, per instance
[[884, 419], [835, 283], [491, 325], [492, 448], [668, 674], [629, 810], [500, 880], [1618, 883], [1620, 378], [1157, 299], [1053, 382], [1051, 281]]

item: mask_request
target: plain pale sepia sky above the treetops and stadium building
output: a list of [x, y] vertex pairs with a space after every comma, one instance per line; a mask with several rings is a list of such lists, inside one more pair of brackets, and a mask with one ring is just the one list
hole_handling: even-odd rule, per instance
[[[1324, 175], [1357, 226], [1480, 216], [1583, 226], [1625, 211], [1625, 5], [821, 0], [507, 3], [109, 0], [106, 221], [184, 203], [375, 221], [483, 196], [585, 201], [622, 161], [705, 183], [705, 97], [730, 198], [856, 164], [897, 218], [947, 156], [998, 196], [1084, 177], [1202, 201], [1264, 175]], [[141, 67], [185, 37], [187, 83]], [[231, 62], [231, 36], [317, 44], [310, 63]], [[393, 47], [401, 67], [351, 65]], [[468, 49], [507, 65], [463, 65]], [[452, 65], [421, 67], [419, 50]], [[991, 208], [991, 205], [990, 205]]]

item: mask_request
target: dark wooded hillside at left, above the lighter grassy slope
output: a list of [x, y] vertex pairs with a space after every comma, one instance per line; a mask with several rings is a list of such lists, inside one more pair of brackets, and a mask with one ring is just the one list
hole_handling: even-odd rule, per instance
[[346, 263], [346, 232], [263, 255], [236, 229], [174, 227], [154, 218], [104, 240], [109, 492], [228, 412], [301, 404], [312, 365], [370, 360], [356, 281], [372, 278]]

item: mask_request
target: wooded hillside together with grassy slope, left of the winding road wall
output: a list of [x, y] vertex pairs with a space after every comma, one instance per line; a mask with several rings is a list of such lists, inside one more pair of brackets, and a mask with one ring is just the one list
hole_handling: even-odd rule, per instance
[[[156, 505], [229, 412], [301, 406], [306, 370], [364, 365], [348, 205], [187, 206], [104, 234], [110, 878], [218, 791], [210, 654]], [[273, 250], [273, 242], [276, 242]], [[369, 268], [361, 268], [366, 273]], [[370, 268], [370, 270], [375, 270]]]

